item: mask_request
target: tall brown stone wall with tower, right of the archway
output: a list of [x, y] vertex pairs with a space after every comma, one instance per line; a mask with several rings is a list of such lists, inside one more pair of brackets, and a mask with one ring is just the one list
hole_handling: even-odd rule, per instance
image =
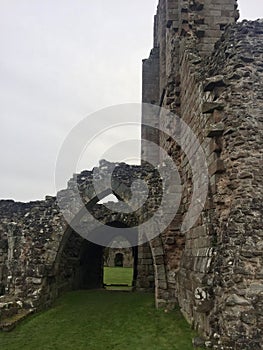
[[[198, 137], [209, 191], [198, 220], [182, 233], [192, 169], [174, 140], [159, 132], [159, 145], [178, 167], [183, 195], [174, 222], [160, 236], [165, 277], [156, 295], [160, 304], [177, 301], [214, 348], [260, 349], [263, 23], [235, 24], [237, 18], [234, 0], [159, 2], [154, 48], [160, 78], [151, 91], [155, 96], [159, 91], [157, 105], [179, 115]], [[143, 102], [151, 103], [145, 96]], [[161, 125], [162, 118], [155, 123], [170, 134], [178, 132], [175, 119], [169, 125]], [[150, 131], [143, 136], [153, 140]], [[143, 152], [151, 150], [146, 146]], [[163, 262], [152, 252], [158, 276]]]

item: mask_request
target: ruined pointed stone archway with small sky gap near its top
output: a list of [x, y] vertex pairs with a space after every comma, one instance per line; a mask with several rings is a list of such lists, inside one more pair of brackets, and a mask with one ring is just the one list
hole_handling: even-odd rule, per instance
[[[68, 182], [68, 188], [58, 193], [57, 202], [60, 209], [62, 208], [63, 212], [66, 213], [67, 221], [71, 223], [71, 227], [81, 235], [81, 237], [76, 238], [76, 234], [73, 233], [71, 227], [66, 229], [61, 235], [57, 250], [58, 253], [56, 254], [56, 270], [54, 273], [55, 276], [58, 276], [55, 279], [61, 280], [59, 283], [61, 285], [60, 289], [80, 287], [100, 288], [103, 286], [104, 248], [101, 249], [96, 244], [99, 242], [102, 246], [108, 246], [116, 235], [122, 235], [129, 241], [130, 246], [134, 247], [132, 248], [132, 285], [134, 287], [136, 286], [136, 288], [138, 287], [139, 290], [152, 290], [154, 283], [152, 252], [148, 252], [144, 256], [145, 249], [138, 248], [137, 228], [141, 220], [147, 220], [150, 217], [151, 210], [149, 212], [149, 209], [155, 208], [151, 198], [153, 197], [156, 200], [156, 205], [159, 204], [159, 197], [155, 196], [155, 173], [156, 170], [149, 165], [145, 165], [145, 168], [142, 168], [125, 163], [108, 163], [102, 161], [100, 168], [96, 168], [95, 171], [93, 169], [91, 172], [83, 171], [80, 174], [75, 174]], [[103, 183], [101, 192], [96, 193], [93, 176], [104, 179], [105, 174], [110, 176], [111, 184], [107, 182]], [[133, 210], [127, 211], [127, 208], [131, 209], [129, 208], [129, 205], [131, 205], [131, 186], [138, 178], [144, 179], [147, 183], [149, 182], [148, 188], [151, 191], [148, 193], [147, 201], [143, 208], [141, 208], [141, 203], [138, 199], [139, 196], [132, 196], [135, 198], [135, 203], [132, 202]], [[109, 185], [110, 187], [107, 187]], [[107, 206], [104, 200], [105, 198], [107, 200], [110, 194], [113, 194], [119, 202], [111, 202], [110, 206]], [[136, 202], [137, 199], [138, 203]], [[103, 203], [103, 205], [100, 203]], [[134, 208], [137, 209], [135, 210]], [[147, 217], [145, 217], [146, 213]], [[106, 234], [105, 232], [103, 234], [103, 229], [106, 226]], [[109, 227], [111, 229], [108, 229]], [[123, 229], [117, 232], [117, 229], [122, 228], [128, 228], [128, 230]], [[72, 242], [72, 238], [70, 237], [75, 237], [73, 239], [75, 242]], [[85, 240], [82, 237], [85, 237], [89, 242], [96, 242], [96, 244], [91, 246], [90, 243], [84, 243]], [[103, 243], [101, 243], [102, 241]], [[89, 253], [90, 249], [92, 249], [92, 253]], [[140, 249], [139, 272], [138, 249]], [[94, 258], [86, 257], [86, 255], [91, 257], [93, 251], [95, 251], [94, 254], [96, 255]], [[92, 265], [92, 269], [95, 272], [91, 271], [91, 268], [87, 265]], [[99, 277], [96, 279], [92, 276]], [[139, 280], [140, 283], [136, 283]]]

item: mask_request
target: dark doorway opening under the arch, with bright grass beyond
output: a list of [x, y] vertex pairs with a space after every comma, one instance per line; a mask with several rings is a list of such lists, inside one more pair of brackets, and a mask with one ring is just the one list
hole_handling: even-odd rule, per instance
[[[121, 222], [110, 222], [108, 225], [113, 230], [107, 247], [92, 243], [69, 229], [57, 264], [56, 287], [59, 293], [72, 289], [134, 289], [138, 248], [131, 247], [129, 237], [124, 237], [125, 230], [120, 236], [122, 230], [119, 228], [127, 226]], [[101, 233], [94, 230], [90, 237], [92, 239]], [[136, 229], [134, 235], [137, 235]]]

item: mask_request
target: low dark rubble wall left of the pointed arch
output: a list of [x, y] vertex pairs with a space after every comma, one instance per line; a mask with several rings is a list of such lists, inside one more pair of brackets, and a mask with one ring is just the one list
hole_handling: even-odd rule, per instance
[[[15, 203], [2, 201], [1, 231], [8, 237], [8, 256], [5, 294], [22, 299], [24, 305], [44, 303], [43, 288], [56, 255], [56, 243], [66, 224], [53, 197], [45, 201]], [[48, 294], [48, 291], [45, 291]], [[41, 297], [40, 297], [41, 295]]]

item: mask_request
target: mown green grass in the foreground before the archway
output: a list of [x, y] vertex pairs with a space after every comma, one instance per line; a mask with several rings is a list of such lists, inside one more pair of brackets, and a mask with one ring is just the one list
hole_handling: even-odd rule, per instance
[[179, 311], [154, 308], [150, 293], [77, 291], [0, 333], [1, 350], [190, 350]]

